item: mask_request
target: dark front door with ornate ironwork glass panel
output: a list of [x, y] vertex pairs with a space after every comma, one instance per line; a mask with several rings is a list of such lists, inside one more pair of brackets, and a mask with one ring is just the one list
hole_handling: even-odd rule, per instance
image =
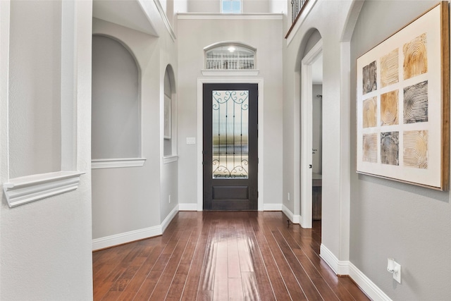
[[258, 209], [258, 85], [204, 84], [204, 210]]

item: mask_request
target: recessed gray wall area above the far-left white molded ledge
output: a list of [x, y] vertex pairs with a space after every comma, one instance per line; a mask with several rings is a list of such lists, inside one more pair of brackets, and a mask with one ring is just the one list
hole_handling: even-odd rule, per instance
[[61, 2], [12, 1], [9, 51], [10, 176], [60, 171]]

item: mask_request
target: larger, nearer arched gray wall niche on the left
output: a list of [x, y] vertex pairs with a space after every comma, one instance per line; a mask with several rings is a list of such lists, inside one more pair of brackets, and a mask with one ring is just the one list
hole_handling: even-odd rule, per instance
[[92, 159], [140, 158], [140, 66], [129, 47], [92, 37]]

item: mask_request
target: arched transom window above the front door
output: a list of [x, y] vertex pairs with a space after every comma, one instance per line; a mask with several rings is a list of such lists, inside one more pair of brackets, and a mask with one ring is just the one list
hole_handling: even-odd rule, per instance
[[255, 68], [254, 47], [237, 43], [221, 42], [204, 48], [205, 68], [219, 70], [243, 70]]

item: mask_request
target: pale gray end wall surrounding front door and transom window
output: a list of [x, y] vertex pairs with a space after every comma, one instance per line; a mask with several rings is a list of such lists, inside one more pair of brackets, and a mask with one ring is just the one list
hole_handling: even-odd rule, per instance
[[[280, 15], [273, 15], [280, 16]], [[278, 17], [277, 17], [278, 18]], [[179, 202], [197, 204], [197, 145], [187, 145], [187, 137], [197, 137], [197, 79], [204, 68], [204, 47], [221, 41], [237, 41], [257, 48], [259, 75], [264, 80], [264, 202], [281, 204], [282, 197], [282, 20], [196, 19], [179, 15]], [[192, 32], [197, 32], [192, 35]], [[211, 78], [211, 77], [209, 77]], [[214, 77], [221, 78], [221, 77]], [[246, 78], [237, 75], [235, 78]], [[230, 76], [227, 77], [230, 80]], [[197, 137], [202, 143], [202, 137]], [[259, 150], [261, 152], [261, 150]], [[261, 171], [261, 168], [259, 168]], [[260, 189], [260, 188], [259, 188]]]

